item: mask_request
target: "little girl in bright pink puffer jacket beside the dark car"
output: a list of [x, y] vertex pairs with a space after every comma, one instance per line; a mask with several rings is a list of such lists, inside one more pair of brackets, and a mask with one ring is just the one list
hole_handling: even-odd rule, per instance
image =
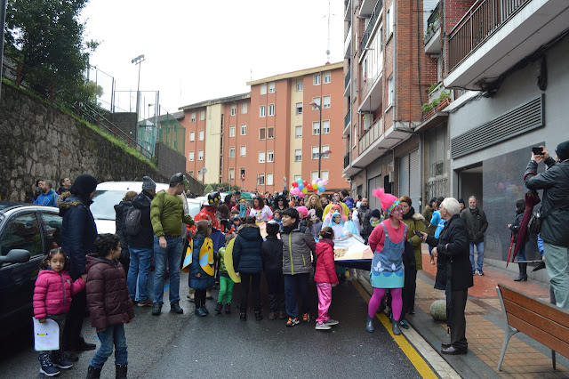
[[72, 282], [67, 271], [69, 266], [67, 254], [60, 248], [52, 249], [42, 260], [34, 289], [36, 319], [41, 323], [44, 323], [45, 319], [52, 319], [60, 327], [60, 350], [40, 351], [39, 372], [47, 376], [60, 374], [58, 367], [73, 367], [73, 364], [63, 355], [61, 341], [66, 314], [71, 305], [71, 295], [83, 290], [85, 282], [82, 278]]

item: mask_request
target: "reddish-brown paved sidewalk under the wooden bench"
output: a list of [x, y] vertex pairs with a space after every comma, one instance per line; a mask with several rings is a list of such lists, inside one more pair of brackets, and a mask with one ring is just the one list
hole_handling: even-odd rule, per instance
[[[423, 254], [422, 258], [423, 270], [417, 275], [415, 314], [408, 315], [407, 319], [431, 346], [440, 351], [441, 343], [448, 341], [446, 324], [435, 322], [430, 317], [430, 305], [436, 300], [445, 299], [445, 293], [433, 288], [437, 266], [429, 264], [429, 254]], [[501, 371], [496, 370], [504, 341], [503, 318], [496, 285], [503, 283], [547, 302], [549, 287], [531, 279], [515, 282], [512, 273], [491, 266], [486, 266], [484, 272], [485, 276], [474, 277], [474, 286], [469, 288], [466, 305], [469, 353], [441, 356], [464, 378], [569, 378], [569, 359], [557, 354], [557, 370], [554, 370], [551, 351], [521, 333], [510, 339]]]

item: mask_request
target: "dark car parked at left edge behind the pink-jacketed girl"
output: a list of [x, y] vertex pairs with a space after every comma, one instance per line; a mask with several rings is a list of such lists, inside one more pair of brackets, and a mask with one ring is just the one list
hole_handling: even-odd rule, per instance
[[39, 264], [60, 245], [58, 208], [0, 201], [0, 339], [31, 326]]

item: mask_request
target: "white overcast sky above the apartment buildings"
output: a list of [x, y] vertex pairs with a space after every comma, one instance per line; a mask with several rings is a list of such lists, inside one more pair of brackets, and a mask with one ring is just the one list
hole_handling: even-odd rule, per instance
[[[91, 64], [117, 91], [160, 91], [169, 112], [198, 101], [245, 93], [245, 83], [325, 64], [330, 3], [330, 62], [343, 60], [341, 0], [92, 0], [82, 12], [85, 40], [101, 42]], [[91, 73], [91, 79], [94, 80]], [[103, 99], [111, 80], [97, 75]], [[150, 93], [145, 102], [154, 102]], [[116, 106], [128, 109], [128, 93]], [[132, 95], [132, 102], [135, 102]], [[152, 111], [153, 110], [149, 110]]]

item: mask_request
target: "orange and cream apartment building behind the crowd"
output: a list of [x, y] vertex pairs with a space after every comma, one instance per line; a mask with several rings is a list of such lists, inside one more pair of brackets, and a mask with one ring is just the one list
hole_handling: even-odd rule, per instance
[[[251, 93], [181, 107], [188, 173], [204, 183], [282, 191], [292, 180], [317, 179], [321, 152], [326, 191], [349, 188], [341, 174], [342, 69], [340, 62], [265, 77], [247, 83]], [[311, 101], [322, 104], [321, 149]]]

